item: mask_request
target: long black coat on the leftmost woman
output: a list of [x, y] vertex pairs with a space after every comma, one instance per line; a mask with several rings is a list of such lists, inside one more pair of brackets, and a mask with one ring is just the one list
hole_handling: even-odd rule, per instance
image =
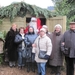
[[17, 60], [17, 44], [14, 42], [17, 30], [10, 29], [5, 38], [4, 48], [7, 49], [9, 61]]

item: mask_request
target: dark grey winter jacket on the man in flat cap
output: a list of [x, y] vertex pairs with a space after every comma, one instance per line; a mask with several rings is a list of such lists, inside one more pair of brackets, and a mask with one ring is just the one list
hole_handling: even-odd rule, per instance
[[65, 45], [64, 46], [61, 45], [62, 52], [63, 50], [67, 49], [68, 54], [65, 56], [75, 58], [75, 31], [67, 30], [63, 35], [61, 44], [63, 42], [65, 43]]

